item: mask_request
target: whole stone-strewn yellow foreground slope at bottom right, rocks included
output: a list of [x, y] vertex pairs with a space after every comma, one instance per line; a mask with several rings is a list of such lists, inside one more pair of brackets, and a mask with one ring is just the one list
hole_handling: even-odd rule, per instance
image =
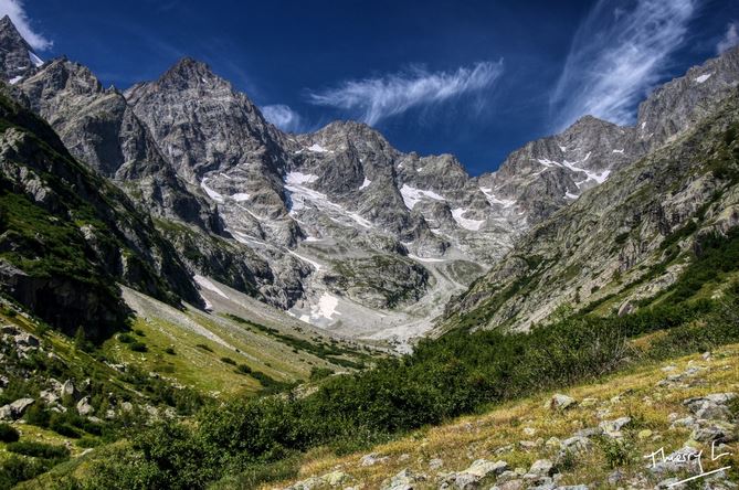
[[[367, 452], [337, 457], [317, 449], [304, 458], [299, 482], [263, 488], [737, 488], [739, 403], [732, 393], [739, 393], [739, 344], [572, 387], [562, 392], [574, 402], [564, 409], [551, 408], [549, 393], [420, 429]], [[686, 404], [697, 397], [706, 398]], [[730, 455], [711, 460], [711, 440], [717, 440], [715, 457]], [[675, 451], [697, 452], [689, 448], [703, 450], [704, 477], [668, 487], [699, 475], [695, 458], [687, 466], [652, 467], [647, 456], [664, 449], [667, 459], [677, 460]], [[730, 468], [708, 475], [724, 467]]]

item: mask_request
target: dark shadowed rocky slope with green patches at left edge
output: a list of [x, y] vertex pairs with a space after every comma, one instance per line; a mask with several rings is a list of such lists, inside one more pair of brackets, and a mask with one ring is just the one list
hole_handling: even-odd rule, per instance
[[[115, 281], [166, 301], [178, 301], [179, 296], [199, 303], [194, 285], [171, 245], [119, 189], [75, 161], [45, 122], [4, 97], [0, 118], [12, 126], [0, 137], [3, 185], [22, 196], [25, 209], [44, 216], [44, 226], [34, 228], [32, 237], [3, 234], [3, 249], [14, 252], [0, 264], [0, 285], [7, 294], [72, 333], [83, 323], [102, 331], [122, 321], [126, 310], [116, 298], [118, 291], [107, 287]], [[18, 220], [6, 225], [20, 232], [28, 228]], [[53, 245], [46, 244], [60, 239], [84, 257], [74, 267], [67, 266], [73, 273], [21, 268], [21, 258], [36, 259], [39, 254], [51, 260], [76, 260], [54, 255]], [[76, 275], [108, 283], [101, 287]]]

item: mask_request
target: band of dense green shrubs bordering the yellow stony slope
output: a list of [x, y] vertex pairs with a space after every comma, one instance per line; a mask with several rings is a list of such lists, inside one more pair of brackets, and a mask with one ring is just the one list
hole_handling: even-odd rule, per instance
[[[685, 275], [678, 285], [694, 277]], [[733, 285], [720, 298], [688, 295], [623, 317], [562, 315], [530, 333], [457, 330], [373, 370], [327, 379], [304, 396], [233, 398], [204, 407], [188, 423], [156, 424], [53, 472], [53, 482], [63, 477], [81, 488], [205, 488], [217, 481], [254, 488], [296, 475], [300, 461], [315, 455], [367, 452], [463, 414], [530, 396], [540, 401], [552, 390], [736, 343], [738, 312]], [[42, 482], [53, 488], [50, 480]]]

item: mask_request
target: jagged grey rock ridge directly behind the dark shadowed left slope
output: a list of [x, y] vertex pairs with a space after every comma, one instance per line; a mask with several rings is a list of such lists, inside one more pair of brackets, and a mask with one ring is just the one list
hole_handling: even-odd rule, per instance
[[125, 97], [86, 67], [54, 60], [18, 84], [70, 152], [118, 182], [148, 212], [219, 232], [214, 209], [187, 189]]

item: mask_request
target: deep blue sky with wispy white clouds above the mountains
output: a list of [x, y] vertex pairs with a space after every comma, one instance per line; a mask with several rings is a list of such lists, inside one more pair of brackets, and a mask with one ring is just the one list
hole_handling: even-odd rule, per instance
[[0, 0], [0, 14], [106, 86], [192, 56], [287, 131], [361, 120], [472, 174], [585, 114], [633, 124], [651, 89], [739, 44], [739, 0]]

